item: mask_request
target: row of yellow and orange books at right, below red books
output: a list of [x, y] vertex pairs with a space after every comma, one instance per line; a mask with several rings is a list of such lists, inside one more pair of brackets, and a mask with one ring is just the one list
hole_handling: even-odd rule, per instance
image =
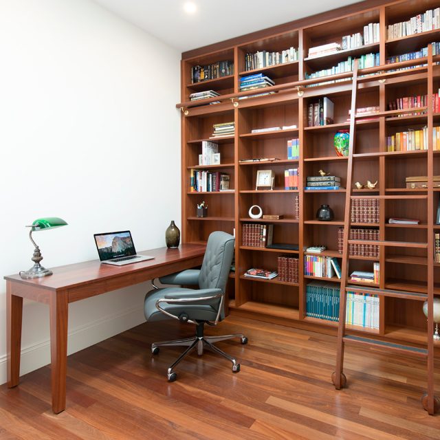
[[[440, 150], [440, 127], [432, 128], [432, 148]], [[421, 130], [408, 130], [386, 137], [386, 151], [428, 150], [428, 127]]]

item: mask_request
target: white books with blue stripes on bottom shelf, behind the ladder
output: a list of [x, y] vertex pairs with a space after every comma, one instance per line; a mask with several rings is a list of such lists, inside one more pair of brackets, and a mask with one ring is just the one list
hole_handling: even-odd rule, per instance
[[347, 292], [345, 322], [368, 329], [379, 329], [379, 297], [371, 294]]

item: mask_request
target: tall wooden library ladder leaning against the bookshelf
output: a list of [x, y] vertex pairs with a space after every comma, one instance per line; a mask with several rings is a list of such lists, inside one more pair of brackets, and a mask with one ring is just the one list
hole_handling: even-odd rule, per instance
[[[343, 251], [342, 251], [342, 275], [340, 289], [340, 310], [338, 324], [338, 348], [336, 358], [336, 371], [333, 372], [331, 380], [336, 389], [340, 389], [347, 384], [347, 377], [344, 375], [344, 347], [346, 343], [358, 344], [361, 347], [376, 347], [377, 349], [387, 350], [394, 353], [405, 355], [413, 355], [418, 358], [426, 359], [428, 366], [428, 387], [427, 393], [423, 395], [421, 401], [423, 408], [433, 415], [440, 409], [440, 400], [434, 395], [434, 341], [432, 339], [432, 331], [434, 329], [433, 319], [433, 298], [434, 298], [434, 207], [433, 207], [433, 153], [432, 153], [432, 47], [428, 45], [428, 191], [427, 195], [405, 195], [406, 199], [424, 199], [427, 203], [428, 215], [428, 241], [427, 243], [404, 243], [399, 241], [386, 241], [384, 233], [381, 234], [381, 240], [375, 241], [375, 245], [380, 246], [380, 252], [383, 254], [386, 247], [403, 247], [403, 248], [419, 248], [426, 249], [428, 256], [427, 264], [427, 293], [404, 292], [400, 290], [380, 289], [374, 287], [360, 287], [347, 285], [349, 276], [349, 245], [350, 244], [371, 244], [371, 241], [350, 240], [349, 233], [351, 228], [351, 203], [354, 199], [379, 199], [380, 215], [385, 213], [385, 203], [387, 199], [401, 199], [401, 195], [369, 195], [369, 196], [353, 196], [353, 154], [355, 148], [356, 120], [360, 120], [362, 116], [356, 115], [356, 98], [358, 92], [358, 60], [355, 60], [353, 67], [353, 88], [351, 93], [351, 118], [350, 118], [350, 139], [349, 139], [349, 156], [347, 164], [347, 192], [344, 211], [344, 234], [343, 234]], [[390, 111], [380, 112], [379, 115], [385, 116]], [[385, 113], [385, 114], [383, 114]], [[397, 113], [397, 112], [396, 112]], [[391, 114], [390, 114], [391, 115]], [[382, 173], [384, 178], [384, 173]], [[382, 258], [382, 262], [385, 259]], [[382, 276], [384, 276], [384, 268], [382, 268]], [[382, 283], [384, 285], [384, 283]], [[395, 344], [384, 340], [375, 340], [372, 338], [364, 338], [362, 336], [348, 335], [346, 333], [346, 314], [347, 314], [347, 292], [358, 292], [364, 294], [374, 294], [377, 296], [387, 296], [391, 298], [404, 298], [418, 300], [420, 307], [422, 302], [428, 300], [428, 328], [426, 348], [412, 347], [410, 345]]]

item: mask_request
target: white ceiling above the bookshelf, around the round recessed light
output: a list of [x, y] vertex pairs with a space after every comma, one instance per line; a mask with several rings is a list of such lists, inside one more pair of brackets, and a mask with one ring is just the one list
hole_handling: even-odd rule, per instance
[[359, 0], [94, 0], [157, 39], [186, 52], [235, 36], [340, 8]]

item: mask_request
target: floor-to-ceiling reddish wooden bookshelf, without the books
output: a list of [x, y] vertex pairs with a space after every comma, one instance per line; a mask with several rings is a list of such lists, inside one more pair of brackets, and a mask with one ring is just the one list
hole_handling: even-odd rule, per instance
[[[182, 54], [181, 62], [181, 113], [182, 162], [182, 238], [184, 242], [206, 241], [210, 232], [225, 230], [235, 232], [235, 265], [237, 274], [230, 279], [233, 288], [230, 294], [230, 313], [254, 317], [266, 321], [283, 323], [292, 327], [312, 329], [334, 334], [336, 322], [307, 316], [307, 284], [318, 277], [304, 275], [305, 249], [311, 245], [323, 244], [331, 256], [341, 261], [338, 252], [338, 230], [346, 223], [344, 212], [347, 197], [351, 194], [365, 199], [379, 199], [380, 218], [377, 223], [358, 222], [352, 228], [379, 230], [379, 256], [350, 255], [349, 271], [373, 272], [373, 263], [380, 263], [380, 283], [365, 287], [396, 289], [402, 292], [427, 293], [430, 298], [440, 296], [440, 264], [434, 263], [433, 234], [440, 231], [434, 225], [439, 188], [406, 188], [406, 177], [440, 175], [440, 151], [433, 151], [432, 139], [428, 149], [413, 151], [388, 151], [386, 140], [395, 133], [419, 130], [423, 126], [440, 125], [440, 113], [434, 113], [430, 98], [428, 105], [412, 110], [415, 115], [404, 111], [390, 110], [388, 103], [413, 95], [429, 95], [440, 88], [440, 66], [434, 65], [439, 56], [423, 57], [417, 61], [395, 63], [396, 72], [382, 72], [389, 56], [397, 56], [420, 50], [432, 41], [440, 41], [440, 30], [423, 32], [412, 36], [387, 41], [387, 26], [405, 21], [427, 9], [437, 8], [440, 3], [423, 0], [367, 0], [349, 5], [347, 8], [330, 11], [316, 17], [308, 17], [284, 25], [262, 30], [256, 34], [241, 36], [209, 47], [201, 47]], [[364, 25], [380, 23], [380, 42], [351, 50], [309, 57], [308, 50], [316, 45], [340, 43], [342, 36], [363, 32]], [[298, 49], [298, 61], [271, 65], [261, 69], [245, 70], [245, 56], [256, 51], [277, 52], [287, 47]], [[347, 60], [347, 56], [358, 57], [378, 53], [380, 66], [360, 71], [356, 109], [379, 107], [379, 111], [362, 118], [356, 113], [351, 124], [349, 109], [352, 100], [352, 77], [337, 74], [319, 78], [320, 82], [339, 79], [339, 82], [314, 85], [305, 80], [306, 74], [321, 68], [331, 68]], [[234, 75], [207, 81], [202, 85], [190, 84], [192, 66], [208, 64], [225, 59], [234, 60]], [[419, 64], [417, 64], [419, 63]], [[427, 64], [422, 66], [421, 64]], [[382, 67], [382, 69], [381, 69]], [[407, 67], [415, 67], [407, 69]], [[240, 99], [240, 78], [250, 74], [263, 74], [275, 81], [275, 86], [259, 89], [274, 92], [265, 96]], [[364, 74], [370, 76], [364, 76]], [[317, 82], [317, 81], [315, 81]], [[319, 83], [319, 81], [318, 81]], [[221, 94], [220, 104], [194, 107], [188, 96], [194, 91], [213, 89]], [[308, 126], [308, 106], [326, 96], [334, 104], [333, 124]], [[184, 112], [188, 111], [188, 114]], [[402, 115], [403, 114], [403, 115]], [[212, 125], [222, 122], [235, 123], [234, 136], [219, 140], [210, 139]], [[274, 126], [292, 126], [296, 129], [252, 133], [252, 129]], [[355, 152], [353, 154], [353, 182], [364, 184], [367, 180], [378, 181], [376, 188], [347, 188], [349, 158], [339, 157], [333, 148], [333, 137], [341, 129], [355, 127]], [[298, 138], [299, 159], [287, 159], [287, 141]], [[217, 142], [221, 153], [221, 165], [198, 166], [198, 155], [203, 141]], [[274, 161], [241, 162], [261, 157], [276, 158]], [[230, 188], [234, 192], [189, 192], [190, 169], [219, 170], [230, 174]], [[300, 179], [298, 190], [284, 189], [284, 171], [298, 168]], [[307, 176], [316, 176], [324, 169], [341, 177], [340, 190], [305, 190]], [[256, 190], [256, 172], [274, 170], [274, 190]], [[217, 197], [217, 195], [224, 197]], [[299, 197], [299, 218], [294, 218], [294, 197]], [[210, 217], [197, 219], [195, 204], [208, 202]], [[430, 202], [432, 200], [432, 202]], [[431, 206], [428, 206], [431, 203]], [[335, 212], [333, 221], [316, 219], [316, 211], [322, 204], [329, 204]], [[283, 214], [280, 220], [249, 219], [248, 210], [259, 205], [265, 214]], [[417, 218], [417, 225], [389, 224], [389, 217]], [[274, 225], [274, 243], [298, 244], [299, 251], [252, 248], [242, 245], [243, 223], [271, 223]], [[353, 243], [353, 241], [351, 241]], [[401, 243], [406, 243], [402, 245]], [[261, 282], [245, 278], [243, 274], [250, 267], [264, 267], [276, 270], [278, 256], [298, 256], [298, 283], [280, 283], [276, 278]], [[328, 278], [320, 278], [329, 281]], [[349, 279], [349, 278], [348, 278]], [[338, 278], [330, 282], [344, 285]], [[350, 281], [348, 281], [351, 283]], [[362, 283], [353, 283], [363, 287]], [[430, 285], [432, 286], [430, 292]], [[421, 303], [410, 298], [380, 297], [380, 320], [378, 329], [347, 326], [356, 334], [366, 333], [368, 337], [380, 340], [416, 344], [426, 347], [431, 329], [427, 329], [426, 317]], [[432, 324], [432, 319], [430, 321]], [[434, 347], [434, 346], [432, 346]], [[440, 344], [435, 345], [438, 354]], [[432, 350], [434, 350], [432, 348]], [[432, 409], [432, 408], [431, 408]]]

